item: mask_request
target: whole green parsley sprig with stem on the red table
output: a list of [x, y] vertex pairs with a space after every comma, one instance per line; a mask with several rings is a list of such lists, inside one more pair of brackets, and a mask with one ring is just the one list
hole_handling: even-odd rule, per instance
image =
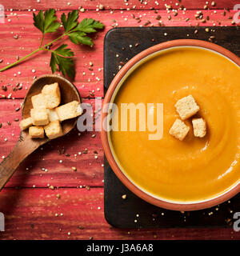
[[[64, 27], [65, 32], [53, 41], [43, 44], [45, 34], [56, 32], [61, 25]], [[42, 32], [42, 39], [38, 49], [27, 54], [25, 57], [20, 58], [17, 62], [2, 68], [0, 72], [18, 65], [18, 63], [26, 60], [26, 58], [38, 53], [38, 51], [45, 50], [50, 51], [51, 53], [50, 68], [52, 73], [59, 71], [62, 72], [64, 76], [74, 78], [74, 52], [70, 50], [70, 48], [67, 48], [67, 44], [62, 44], [55, 50], [51, 50], [50, 46], [52, 47], [54, 42], [68, 36], [70, 41], [74, 44], [82, 43], [83, 45], [92, 47], [94, 46], [94, 42], [92, 41], [92, 38], [87, 36], [87, 34], [95, 33], [97, 30], [104, 28], [104, 25], [101, 22], [98, 22], [93, 18], [84, 18], [82, 22], [78, 22], [78, 10], [69, 12], [67, 17], [66, 14], [63, 13], [61, 22], [58, 22], [56, 10], [54, 9], [46, 10], [45, 12], [40, 10], [38, 14], [34, 14], [34, 26]]]

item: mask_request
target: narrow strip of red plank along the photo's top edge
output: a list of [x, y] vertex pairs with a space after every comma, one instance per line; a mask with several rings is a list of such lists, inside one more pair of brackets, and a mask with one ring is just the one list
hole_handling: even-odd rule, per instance
[[[211, 2], [209, 1], [209, 7], [214, 9], [223, 9], [223, 8], [230, 8], [232, 9], [235, 4], [238, 4], [237, 0], [218, 0], [215, 1], [216, 5], [211, 6]], [[177, 6], [176, 6], [177, 3]], [[119, 10], [119, 9], [130, 9], [130, 10], [149, 10], [150, 8], [155, 8], [159, 10], [166, 10], [166, 5], [171, 5], [173, 8], [179, 8], [179, 6], [186, 7], [187, 10], [193, 10], [193, 9], [203, 9], [204, 6], [206, 6], [205, 0], [198, 0], [198, 1], [192, 1], [192, 0], [182, 0], [180, 1], [155, 1], [155, 0], [129, 0], [129, 1], [123, 1], [123, 0], [60, 0], [60, 1], [54, 1], [54, 0], [40, 0], [40, 1], [32, 1], [32, 0], [26, 0], [26, 1], [18, 1], [18, 0], [10, 0], [2, 1], [2, 5], [5, 6], [7, 9], [13, 9], [13, 10], [45, 10], [49, 7], [54, 9], [60, 9], [60, 10], [74, 10], [78, 9], [80, 7], [85, 8], [86, 10], [98, 10], [99, 4], [102, 4], [104, 6], [105, 10]]]

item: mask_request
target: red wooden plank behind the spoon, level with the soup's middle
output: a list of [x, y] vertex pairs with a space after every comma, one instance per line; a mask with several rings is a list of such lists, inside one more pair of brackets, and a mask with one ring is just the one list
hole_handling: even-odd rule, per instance
[[[10, 154], [18, 140], [19, 122], [15, 122], [14, 119], [21, 120], [21, 111], [15, 111], [21, 102], [20, 99], [0, 101], [1, 161], [2, 157]], [[94, 106], [94, 99], [84, 99], [83, 102]], [[6, 186], [103, 186], [103, 150], [100, 133], [92, 131], [81, 133], [81, 136], [79, 134], [75, 129], [70, 134], [36, 150], [19, 166]], [[63, 149], [65, 153], [59, 154], [58, 151], [63, 152]], [[87, 154], [84, 154], [86, 152]], [[95, 154], [96, 152], [98, 154]], [[71, 167], [76, 167], [77, 171]]]

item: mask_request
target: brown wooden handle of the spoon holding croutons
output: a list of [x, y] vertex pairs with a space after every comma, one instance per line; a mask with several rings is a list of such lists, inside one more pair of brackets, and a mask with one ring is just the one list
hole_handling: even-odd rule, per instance
[[40, 143], [30, 142], [27, 137], [22, 138], [20, 136], [14, 150], [0, 163], [0, 191], [14, 174], [15, 170], [17, 170], [20, 163], [36, 150], [38, 146], [40, 146]]

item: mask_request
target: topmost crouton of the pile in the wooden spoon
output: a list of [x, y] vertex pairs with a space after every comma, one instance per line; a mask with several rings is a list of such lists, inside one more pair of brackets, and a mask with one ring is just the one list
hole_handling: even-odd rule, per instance
[[44, 86], [42, 88], [42, 94], [45, 96], [47, 109], [54, 109], [61, 102], [61, 94], [58, 82]]

